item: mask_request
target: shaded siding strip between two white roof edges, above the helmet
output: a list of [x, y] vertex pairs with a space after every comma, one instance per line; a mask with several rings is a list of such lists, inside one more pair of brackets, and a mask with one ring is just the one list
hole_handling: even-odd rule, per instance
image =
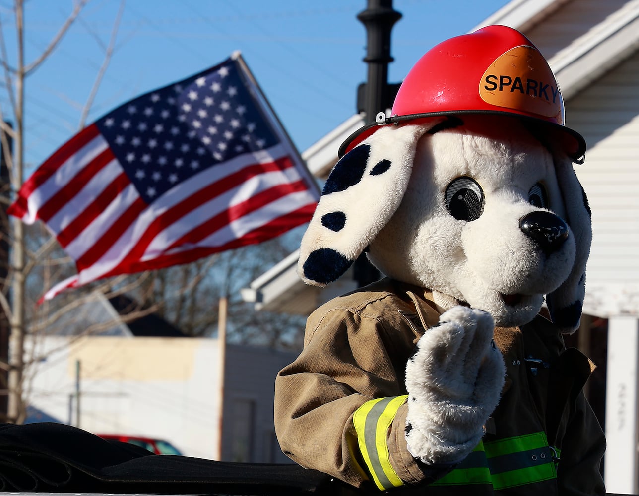
[[636, 0], [572, 0], [560, 5], [555, 12], [525, 35], [535, 43], [546, 59], [571, 52], [589, 38], [605, 29], [606, 22], [624, 15], [624, 10]]

